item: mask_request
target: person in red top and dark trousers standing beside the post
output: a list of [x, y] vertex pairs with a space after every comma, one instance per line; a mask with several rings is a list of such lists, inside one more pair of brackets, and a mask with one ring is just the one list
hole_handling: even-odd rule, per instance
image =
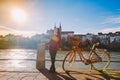
[[60, 36], [59, 28], [55, 28], [54, 34], [51, 36], [49, 42], [46, 43], [46, 45], [48, 45], [48, 49], [51, 57], [50, 72], [55, 72], [55, 57], [57, 50], [59, 50], [60, 48], [60, 41], [61, 41], [61, 36]]

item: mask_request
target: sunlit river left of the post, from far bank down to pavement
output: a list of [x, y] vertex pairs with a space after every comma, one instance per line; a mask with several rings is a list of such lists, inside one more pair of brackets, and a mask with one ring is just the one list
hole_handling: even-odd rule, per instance
[[0, 67], [34, 67], [36, 50], [6, 49], [0, 50]]

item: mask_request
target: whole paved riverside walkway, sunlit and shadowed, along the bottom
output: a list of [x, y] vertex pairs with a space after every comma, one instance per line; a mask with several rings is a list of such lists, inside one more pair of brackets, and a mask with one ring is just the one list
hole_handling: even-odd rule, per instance
[[50, 73], [47, 69], [0, 68], [0, 80], [120, 80], [120, 70], [103, 73], [86, 69], [67, 72], [57, 69], [56, 73]]

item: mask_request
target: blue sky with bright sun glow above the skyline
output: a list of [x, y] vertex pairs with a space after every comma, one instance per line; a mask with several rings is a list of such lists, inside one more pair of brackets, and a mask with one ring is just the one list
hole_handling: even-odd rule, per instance
[[0, 0], [2, 35], [32, 36], [60, 24], [75, 34], [120, 31], [120, 0]]

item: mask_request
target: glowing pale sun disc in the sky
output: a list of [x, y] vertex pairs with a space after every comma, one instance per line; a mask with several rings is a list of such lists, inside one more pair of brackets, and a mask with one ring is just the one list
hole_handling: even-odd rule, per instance
[[25, 22], [27, 19], [27, 14], [23, 9], [20, 8], [14, 8], [11, 10], [11, 17], [16, 22]]

